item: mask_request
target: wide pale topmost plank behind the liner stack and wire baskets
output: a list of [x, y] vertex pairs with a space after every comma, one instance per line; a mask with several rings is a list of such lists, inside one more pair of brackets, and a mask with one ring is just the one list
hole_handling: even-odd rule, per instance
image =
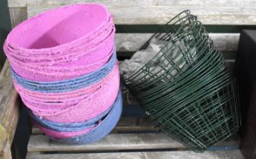
[[[65, 2], [61, 2], [58, 5], [28, 5], [28, 17], [33, 17], [40, 12], [68, 4]], [[204, 24], [256, 25], [255, 6], [198, 6], [172, 5], [172, 3], [169, 5], [158, 5], [157, 2], [153, 5], [145, 2], [141, 5], [138, 5], [140, 4], [139, 2], [119, 2], [118, 5], [113, 5], [112, 2], [107, 1], [103, 2], [103, 4], [115, 15], [115, 24], [164, 24], [181, 11], [190, 9], [191, 13], [197, 15], [198, 19]], [[137, 11], [140, 11], [140, 14], [137, 14]]]

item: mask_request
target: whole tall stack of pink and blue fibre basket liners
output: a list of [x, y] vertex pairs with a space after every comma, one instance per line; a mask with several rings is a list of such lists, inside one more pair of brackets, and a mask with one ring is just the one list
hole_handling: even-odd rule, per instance
[[90, 143], [122, 112], [112, 14], [99, 4], [70, 5], [24, 21], [4, 50], [27, 112], [47, 136]]

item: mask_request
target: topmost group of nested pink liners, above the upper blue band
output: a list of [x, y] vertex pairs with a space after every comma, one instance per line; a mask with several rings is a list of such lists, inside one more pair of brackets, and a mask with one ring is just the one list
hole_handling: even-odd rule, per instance
[[103, 5], [71, 5], [21, 23], [4, 49], [14, 71], [27, 80], [69, 80], [106, 64], [114, 35], [112, 15]]

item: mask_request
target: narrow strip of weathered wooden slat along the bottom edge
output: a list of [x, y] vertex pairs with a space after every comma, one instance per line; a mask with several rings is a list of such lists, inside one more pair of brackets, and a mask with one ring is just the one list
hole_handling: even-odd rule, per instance
[[27, 159], [243, 159], [239, 150], [235, 151], [150, 151], [150, 152], [119, 152], [96, 154], [32, 154]]

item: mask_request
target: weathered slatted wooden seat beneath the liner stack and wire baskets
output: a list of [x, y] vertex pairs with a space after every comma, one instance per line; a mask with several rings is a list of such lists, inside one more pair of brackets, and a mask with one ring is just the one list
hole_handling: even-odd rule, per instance
[[33, 128], [27, 158], [243, 158], [237, 134], [209, 149], [204, 153], [189, 151], [184, 145], [159, 133], [147, 118], [122, 117], [109, 136], [89, 145], [63, 145]]

